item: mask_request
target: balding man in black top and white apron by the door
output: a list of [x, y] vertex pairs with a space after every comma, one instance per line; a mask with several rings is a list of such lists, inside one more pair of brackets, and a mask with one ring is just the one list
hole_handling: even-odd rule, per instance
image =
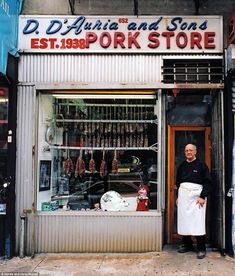
[[196, 158], [197, 148], [193, 144], [185, 147], [186, 160], [183, 161], [176, 177], [177, 229], [183, 244], [179, 253], [193, 251], [191, 236], [197, 240], [197, 258], [206, 256], [206, 198], [211, 189], [211, 175], [207, 165]]

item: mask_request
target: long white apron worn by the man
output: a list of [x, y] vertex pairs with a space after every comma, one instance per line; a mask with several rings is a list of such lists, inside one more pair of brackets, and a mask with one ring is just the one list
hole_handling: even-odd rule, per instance
[[180, 235], [202, 236], [206, 234], [206, 202], [199, 208], [196, 199], [202, 185], [190, 182], [180, 184], [177, 208], [177, 230]]

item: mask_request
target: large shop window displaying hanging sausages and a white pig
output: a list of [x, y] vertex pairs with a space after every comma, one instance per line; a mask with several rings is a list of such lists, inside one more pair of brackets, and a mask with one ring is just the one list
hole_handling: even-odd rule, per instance
[[[39, 96], [37, 209], [157, 209], [154, 95]], [[143, 206], [142, 206], [143, 207]]]

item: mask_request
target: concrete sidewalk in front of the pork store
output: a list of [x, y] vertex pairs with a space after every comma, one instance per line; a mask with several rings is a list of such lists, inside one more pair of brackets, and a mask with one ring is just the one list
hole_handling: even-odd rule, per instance
[[143, 254], [38, 254], [33, 259], [0, 260], [0, 272], [0, 276], [232, 276], [235, 259], [208, 250], [206, 258], [198, 260], [195, 252], [179, 254], [176, 247]]

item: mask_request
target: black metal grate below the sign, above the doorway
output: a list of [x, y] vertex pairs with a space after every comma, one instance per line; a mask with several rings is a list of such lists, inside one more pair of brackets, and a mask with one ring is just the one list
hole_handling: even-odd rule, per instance
[[222, 60], [164, 60], [163, 83], [222, 83]]

